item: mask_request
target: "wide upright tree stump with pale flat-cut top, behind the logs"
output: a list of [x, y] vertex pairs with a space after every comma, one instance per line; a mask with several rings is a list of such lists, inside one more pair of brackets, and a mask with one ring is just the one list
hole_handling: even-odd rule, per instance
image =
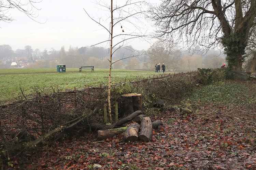
[[122, 95], [120, 103], [120, 116], [124, 117], [142, 109], [142, 95], [130, 93]]

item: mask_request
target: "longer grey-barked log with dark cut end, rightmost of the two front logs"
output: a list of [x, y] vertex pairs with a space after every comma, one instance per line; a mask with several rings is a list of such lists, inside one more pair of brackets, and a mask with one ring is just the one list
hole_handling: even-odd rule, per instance
[[140, 124], [139, 139], [144, 142], [150, 141], [152, 138], [152, 122], [150, 117], [144, 117]]

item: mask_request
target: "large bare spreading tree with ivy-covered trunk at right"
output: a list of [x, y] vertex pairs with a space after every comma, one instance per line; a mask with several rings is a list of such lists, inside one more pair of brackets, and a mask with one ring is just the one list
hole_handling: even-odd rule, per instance
[[256, 0], [162, 0], [151, 17], [159, 37], [180, 38], [190, 47], [221, 43], [233, 70], [241, 70], [251, 28], [256, 24]]

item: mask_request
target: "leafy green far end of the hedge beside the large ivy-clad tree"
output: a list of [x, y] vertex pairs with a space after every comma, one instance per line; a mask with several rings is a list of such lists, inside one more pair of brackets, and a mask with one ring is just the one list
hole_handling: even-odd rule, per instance
[[208, 85], [217, 81], [224, 80], [226, 77], [225, 69], [198, 68], [199, 82]]

